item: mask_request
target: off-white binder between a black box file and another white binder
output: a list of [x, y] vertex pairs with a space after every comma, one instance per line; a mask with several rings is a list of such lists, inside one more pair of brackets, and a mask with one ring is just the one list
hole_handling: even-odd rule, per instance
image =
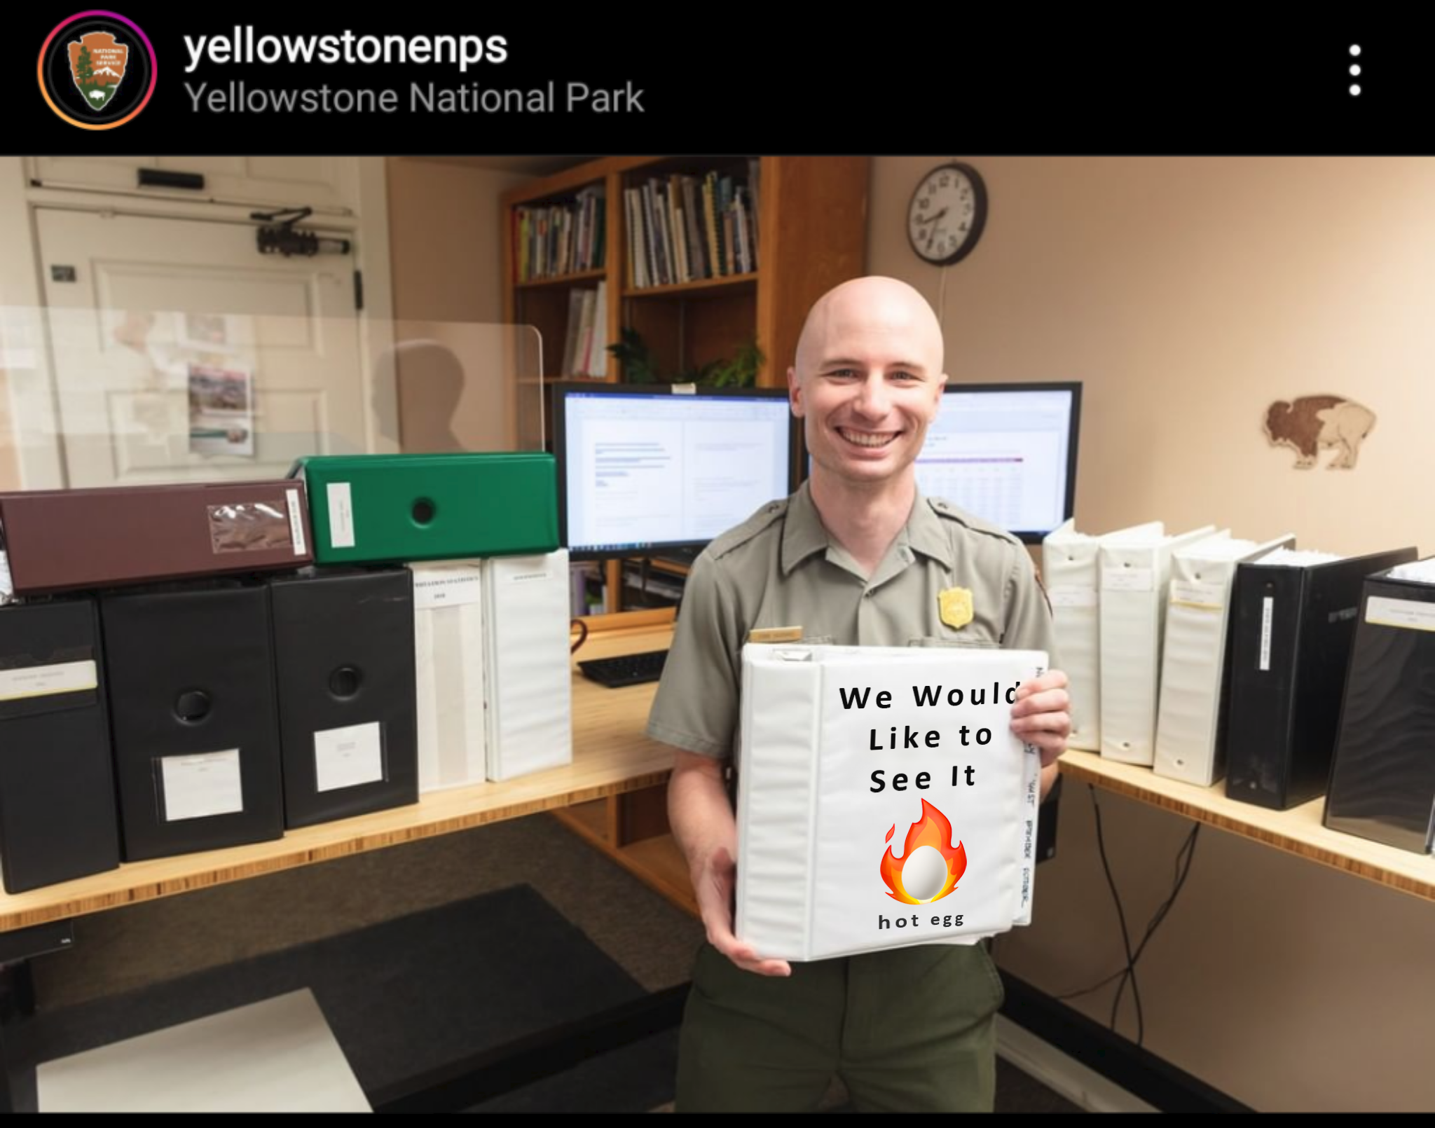
[[410, 564], [419, 706], [419, 794], [482, 784], [484, 564]]

